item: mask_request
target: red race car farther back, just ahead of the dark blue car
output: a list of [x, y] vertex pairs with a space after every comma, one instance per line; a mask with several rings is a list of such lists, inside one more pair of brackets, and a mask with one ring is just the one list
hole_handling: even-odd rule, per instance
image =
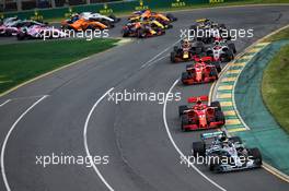
[[186, 65], [186, 72], [182, 73], [182, 83], [184, 85], [208, 83], [218, 80], [218, 73], [221, 71], [219, 62], [211, 61], [211, 57], [196, 58], [195, 64]]

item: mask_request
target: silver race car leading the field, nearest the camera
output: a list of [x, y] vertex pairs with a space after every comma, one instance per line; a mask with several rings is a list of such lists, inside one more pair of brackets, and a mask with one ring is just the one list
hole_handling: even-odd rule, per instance
[[[211, 143], [206, 140], [213, 139]], [[259, 168], [262, 155], [258, 148], [247, 148], [239, 136], [229, 138], [224, 131], [203, 133], [201, 141], [193, 142], [195, 157], [208, 158], [210, 171], [226, 172]]]

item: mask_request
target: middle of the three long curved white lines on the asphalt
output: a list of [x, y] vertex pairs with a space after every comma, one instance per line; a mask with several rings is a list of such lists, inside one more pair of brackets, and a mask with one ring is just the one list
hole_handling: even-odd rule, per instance
[[[90, 118], [93, 114], [93, 111], [95, 110], [95, 108], [97, 107], [97, 105], [102, 102], [102, 99], [109, 93], [114, 89], [114, 87], [109, 88], [101, 98], [99, 98], [99, 100], [93, 105], [93, 107], [91, 108], [90, 110], [90, 114], [89, 116], [86, 117], [86, 120], [85, 120], [85, 124], [84, 124], [84, 129], [83, 129], [83, 140], [84, 140], [84, 148], [85, 148], [85, 152], [86, 152], [86, 155], [88, 156], [91, 156], [90, 154], [90, 150], [89, 150], [89, 146], [88, 146], [88, 127], [89, 127], [89, 122], [90, 122]], [[114, 191], [114, 189], [109, 186], [109, 183], [105, 180], [105, 178], [102, 176], [102, 174], [100, 172], [99, 168], [95, 166], [92, 157], [90, 157], [90, 164], [92, 165], [94, 171], [96, 172], [96, 175], [100, 177], [100, 179], [102, 180], [102, 182], [106, 186], [106, 188], [109, 190], [109, 191]]]

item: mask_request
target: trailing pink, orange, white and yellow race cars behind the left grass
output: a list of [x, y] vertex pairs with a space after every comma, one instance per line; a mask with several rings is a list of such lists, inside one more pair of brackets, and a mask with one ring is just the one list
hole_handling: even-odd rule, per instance
[[[4, 19], [0, 25], [1, 36], [16, 36], [18, 39], [30, 38], [62, 38], [68, 37], [66, 29], [74, 32], [109, 29], [120, 19], [115, 15], [103, 15], [94, 12], [72, 13], [63, 20], [61, 27], [50, 26], [32, 20], [19, 17]], [[165, 29], [172, 28], [172, 22], [177, 21], [173, 14], [162, 14], [151, 10], [136, 11], [127, 19], [127, 24], [122, 28], [123, 37], [146, 38], [165, 34]]]

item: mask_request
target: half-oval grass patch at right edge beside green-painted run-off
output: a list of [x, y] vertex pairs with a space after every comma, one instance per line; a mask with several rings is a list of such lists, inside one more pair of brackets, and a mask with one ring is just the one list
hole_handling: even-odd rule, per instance
[[262, 94], [275, 119], [289, 133], [288, 52], [289, 45], [281, 48], [264, 71]]

